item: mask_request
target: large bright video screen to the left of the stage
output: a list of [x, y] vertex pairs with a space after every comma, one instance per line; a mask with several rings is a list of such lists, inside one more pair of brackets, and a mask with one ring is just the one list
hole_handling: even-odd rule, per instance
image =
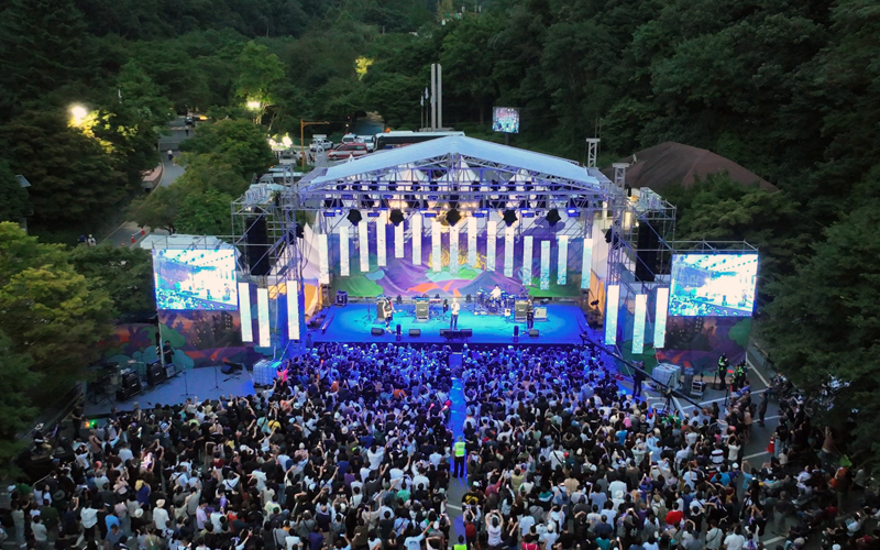
[[238, 309], [234, 250], [154, 250], [158, 309]]

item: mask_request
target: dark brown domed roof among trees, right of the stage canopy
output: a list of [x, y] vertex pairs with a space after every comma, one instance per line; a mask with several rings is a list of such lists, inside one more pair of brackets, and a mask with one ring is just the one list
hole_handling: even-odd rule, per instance
[[[630, 163], [626, 169], [627, 185], [632, 188], [650, 187], [660, 195], [670, 185], [690, 187], [697, 178], [705, 180], [710, 175], [724, 172], [732, 180], [744, 186], [758, 184], [761, 189], [778, 190], [766, 179], [729, 158], [683, 143], [661, 143], [622, 158], [620, 162]], [[613, 175], [613, 169], [607, 173]]]

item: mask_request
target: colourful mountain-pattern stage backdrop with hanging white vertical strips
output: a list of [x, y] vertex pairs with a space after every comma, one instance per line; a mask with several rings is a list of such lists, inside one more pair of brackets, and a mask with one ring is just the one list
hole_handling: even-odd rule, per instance
[[[480, 229], [477, 230], [477, 222]], [[362, 221], [318, 235], [320, 278], [350, 296], [476, 296], [498, 285], [531, 296], [580, 297], [583, 222], [570, 231], [465, 219], [454, 228], [414, 216], [399, 226]], [[587, 278], [587, 285], [590, 279]]]

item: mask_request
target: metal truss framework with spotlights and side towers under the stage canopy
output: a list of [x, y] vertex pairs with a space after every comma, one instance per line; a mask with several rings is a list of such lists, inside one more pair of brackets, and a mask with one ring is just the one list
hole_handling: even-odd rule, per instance
[[[462, 219], [473, 216], [495, 220], [513, 211], [520, 221], [534, 218], [528, 229], [544, 229], [548, 237], [591, 237], [593, 229], [598, 228], [605, 234], [592, 237], [612, 243], [604, 283], [629, 287], [634, 293], [647, 292], [645, 285], [650, 285], [636, 282], [634, 276], [639, 233], [652, 231], [656, 234], [652, 242], [662, 255], [657, 271], [662, 272], [672, 252], [669, 243], [674, 238], [674, 207], [650, 190], [640, 193], [637, 198], [629, 197], [628, 188], [615, 185], [595, 167], [584, 168], [571, 163], [572, 170], [572, 166], [564, 164], [569, 161], [543, 155], [540, 156], [547, 158], [548, 166], [559, 168], [556, 174], [517, 166], [510, 161], [510, 147], [506, 150], [507, 162], [446, 152], [405, 164], [382, 164], [380, 161], [385, 158], [382, 155], [387, 153], [380, 152], [363, 157], [370, 158], [369, 163], [361, 163], [361, 160], [345, 163], [345, 166], [351, 164], [346, 170], [316, 168], [298, 183], [290, 178], [289, 182], [285, 179], [285, 185], [254, 186], [232, 204], [233, 242], [250, 254], [267, 255], [272, 270], [265, 279], [253, 277], [248, 267], [253, 262], [245, 261], [242, 262], [244, 276], [262, 285], [297, 280], [301, 292], [306, 254], [298, 250], [304, 242], [296, 237], [298, 224], [308, 222], [317, 233], [332, 233], [352, 210], [361, 213], [362, 222], [382, 218], [399, 223], [421, 215], [444, 224], [453, 210]], [[532, 156], [532, 167], [540, 165], [535, 160]], [[371, 169], [356, 173], [358, 166], [367, 165]], [[333, 176], [340, 173], [344, 175]], [[580, 176], [564, 178], [560, 173]], [[563, 220], [556, 227], [543, 222], [552, 210]], [[572, 216], [576, 211], [583, 223], [566, 223], [570, 211]], [[249, 234], [260, 218], [266, 222], [267, 242], [254, 245], [249, 242]], [[598, 223], [594, 223], [596, 220]], [[525, 226], [515, 226], [519, 228], [516, 238]], [[652, 283], [658, 284], [662, 284], [660, 277]]]

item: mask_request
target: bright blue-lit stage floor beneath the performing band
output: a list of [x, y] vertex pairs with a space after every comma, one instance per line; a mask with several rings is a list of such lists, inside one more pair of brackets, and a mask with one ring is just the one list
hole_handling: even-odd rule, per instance
[[[537, 338], [529, 337], [526, 323], [516, 323], [503, 316], [474, 315], [471, 305], [462, 304], [459, 314], [459, 330], [471, 329], [473, 337], [465, 340], [457, 339], [453, 342], [479, 344], [509, 344], [514, 343], [514, 327], [519, 324], [520, 344], [580, 344], [581, 333], [587, 330], [586, 319], [581, 308], [574, 305], [551, 304], [547, 306], [547, 320], [535, 321], [538, 329]], [[373, 327], [385, 328], [385, 321], [375, 319], [375, 304], [352, 304], [344, 307], [333, 306], [328, 311], [333, 318], [327, 327], [327, 332], [321, 329], [311, 329], [314, 342], [394, 342], [396, 334], [384, 333], [372, 336]], [[439, 316], [428, 321], [418, 321], [415, 317], [415, 306], [395, 306], [392, 330], [400, 324], [400, 341], [404, 343], [441, 343], [447, 340], [440, 336], [440, 329], [449, 328], [449, 316], [442, 319]], [[367, 312], [371, 314], [370, 318]], [[372, 318], [372, 322], [371, 322]], [[410, 337], [409, 329], [421, 329], [421, 336]]]

